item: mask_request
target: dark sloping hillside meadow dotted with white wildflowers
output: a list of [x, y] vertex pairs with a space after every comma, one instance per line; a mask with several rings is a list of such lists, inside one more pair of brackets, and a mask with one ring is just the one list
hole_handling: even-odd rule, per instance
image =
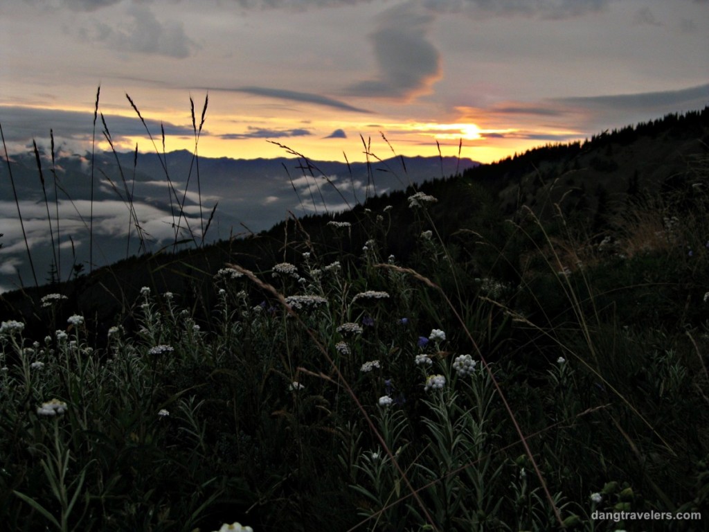
[[28, 289], [0, 326], [5, 526], [705, 529], [709, 160], [577, 194], [631, 129], [526, 185], [501, 162], [109, 267], [112, 315], [89, 276]]

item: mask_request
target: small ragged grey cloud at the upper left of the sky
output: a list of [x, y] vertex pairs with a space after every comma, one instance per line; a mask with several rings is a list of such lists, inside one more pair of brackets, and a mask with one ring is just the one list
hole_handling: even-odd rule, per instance
[[119, 52], [164, 55], [184, 59], [196, 50], [196, 43], [184, 31], [182, 21], [157, 20], [150, 9], [131, 4], [130, 21], [126, 23], [97, 23], [96, 30], [87, 31], [108, 48]]

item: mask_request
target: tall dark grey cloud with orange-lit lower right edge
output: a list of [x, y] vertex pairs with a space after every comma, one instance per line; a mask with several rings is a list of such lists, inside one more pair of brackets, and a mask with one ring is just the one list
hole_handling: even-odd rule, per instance
[[441, 77], [440, 53], [426, 37], [434, 18], [415, 4], [402, 4], [382, 14], [376, 30], [369, 35], [376, 75], [352, 85], [350, 92], [404, 100], [430, 92]]

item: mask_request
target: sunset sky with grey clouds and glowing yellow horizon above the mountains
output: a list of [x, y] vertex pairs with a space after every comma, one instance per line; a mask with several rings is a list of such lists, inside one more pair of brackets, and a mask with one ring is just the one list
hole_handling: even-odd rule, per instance
[[709, 1], [0, 0], [11, 152], [90, 150], [99, 86], [119, 150], [492, 162], [709, 104]]

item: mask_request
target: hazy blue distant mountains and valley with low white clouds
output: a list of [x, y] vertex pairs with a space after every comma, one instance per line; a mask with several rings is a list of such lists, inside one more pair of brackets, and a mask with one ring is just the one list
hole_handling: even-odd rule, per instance
[[196, 159], [181, 150], [137, 157], [99, 153], [93, 164], [90, 154], [54, 162], [40, 154], [40, 174], [35, 153], [12, 155], [9, 167], [4, 161], [0, 167], [0, 292], [33, 285], [34, 275], [40, 284], [52, 275], [65, 280], [74, 268], [89, 270], [89, 261], [106, 265], [160, 250], [176, 239], [201, 243], [207, 227], [205, 241], [214, 241], [264, 231], [289, 213], [347, 210], [376, 194], [478, 164], [457, 157], [394, 157], [349, 165], [286, 157]]

